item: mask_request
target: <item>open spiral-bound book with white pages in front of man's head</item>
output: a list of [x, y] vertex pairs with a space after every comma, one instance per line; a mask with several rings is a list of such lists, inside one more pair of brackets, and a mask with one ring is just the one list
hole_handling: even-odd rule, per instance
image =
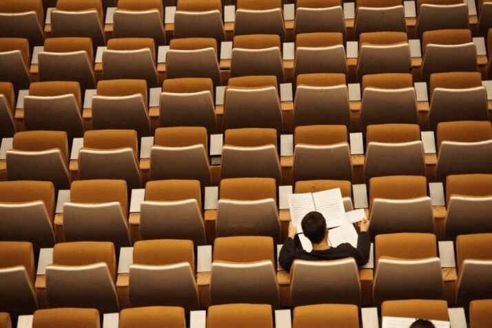
[[345, 213], [342, 192], [340, 188], [324, 190], [322, 192], [307, 192], [305, 194], [289, 194], [290, 216], [292, 224], [297, 227], [298, 232], [303, 228], [300, 222], [309, 212], [320, 212], [327, 221], [327, 227], [339, 227], [347, 223], [356, 223], [366, 218], [363, 209]]

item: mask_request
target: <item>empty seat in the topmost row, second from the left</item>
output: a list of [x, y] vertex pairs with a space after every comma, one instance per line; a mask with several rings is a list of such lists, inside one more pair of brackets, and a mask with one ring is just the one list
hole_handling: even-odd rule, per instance
[[94, 47], [106, 44], [101, 0], [61, 0], [51, 12], [52, 37], [89, 37]]

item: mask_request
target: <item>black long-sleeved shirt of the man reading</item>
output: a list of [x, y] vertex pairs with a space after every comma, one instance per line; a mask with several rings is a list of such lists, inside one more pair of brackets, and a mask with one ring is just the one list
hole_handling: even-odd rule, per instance
[[286, 270], [290, 267], [294, 260], [339, 260], [340, 258], [352, 257], [356, 260], [357, 265], [363, 265], [369, 260], [369, 251], [371, 249], [371, 238], [369, 232], [360, 232], [357, 240], [357, 248], [349, 243], [343, 243], [337, 247], [330, 247], [323, 251], [313, 250], [306, 252], [302, 248], [296, 248], [294, 240], [287, 237], [285, 243], [280, 249], [278, 261]]

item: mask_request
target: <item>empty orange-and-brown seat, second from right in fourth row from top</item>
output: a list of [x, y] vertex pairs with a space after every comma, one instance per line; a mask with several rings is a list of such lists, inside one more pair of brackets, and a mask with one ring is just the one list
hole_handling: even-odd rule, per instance
[[413, 124], [382, 124], [367, 127], [364, 180], [374, 176], [425, 175], [420, 129]]

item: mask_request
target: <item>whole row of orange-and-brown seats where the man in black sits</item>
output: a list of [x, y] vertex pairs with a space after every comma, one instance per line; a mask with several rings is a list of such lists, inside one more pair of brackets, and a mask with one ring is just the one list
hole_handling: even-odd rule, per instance
[[203, 267], [198, 259], [198, 269], [190, 240], [139, 241], [130, 259], [121, 252], [118, 271], [112, 243], [59, 243], [52, 261], [40, 258], [37, 276], [32, 244], [0, 245], [0, 309], [12, 316], [39, 307], [94, 307], [106, 314], [125, 307], [192, 311], [228, 303], [380, 307], [385, 300], [411, 298], [468, 308], [472, 300], [491, 297], [491, 234], [458, 236], [457, 266], [451, 263], [458, 269], [437, 257], [433, 234], [407, 233], [376, 236], [375, 269], [358, 269], [353, 258], [296, 260], [290, 274], [274, 260], [274, 240], [264, 236], [217, 238], [212, 265]]

